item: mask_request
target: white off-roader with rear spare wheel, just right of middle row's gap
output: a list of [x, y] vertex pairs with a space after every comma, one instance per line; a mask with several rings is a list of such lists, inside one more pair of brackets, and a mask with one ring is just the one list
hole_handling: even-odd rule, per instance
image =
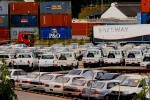
[[84, 68], [89, 66], [103, 66], [103, 53], [99, 49], [89, 49], [82, 58]]

